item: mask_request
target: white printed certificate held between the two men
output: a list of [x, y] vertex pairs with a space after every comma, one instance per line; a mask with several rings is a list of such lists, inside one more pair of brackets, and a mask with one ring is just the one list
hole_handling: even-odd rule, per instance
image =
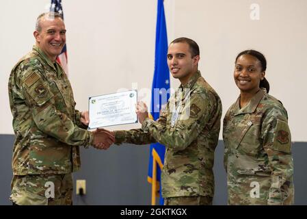
[[88, 129], [137, 123], [137, 90], [91, 96], [88, 99]]

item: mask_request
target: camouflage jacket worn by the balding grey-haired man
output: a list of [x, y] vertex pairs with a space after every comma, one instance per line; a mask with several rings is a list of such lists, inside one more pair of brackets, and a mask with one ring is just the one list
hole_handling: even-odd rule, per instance
[[14, 175], [79, 170], [79, 146], [88, 146], [93, 137], [80, 122], [62, 67], [34, 46], [12, 69], [8, 91], [16, 136]]

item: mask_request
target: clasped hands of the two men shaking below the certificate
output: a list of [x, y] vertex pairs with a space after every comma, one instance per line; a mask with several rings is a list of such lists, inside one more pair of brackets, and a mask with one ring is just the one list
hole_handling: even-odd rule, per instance
[[115, 135], [113, 131], [108, 131], [107, 129], [96, 129], [93, 134], [93, 146], [95, 149], [107, 150], [111, 144], [115, 143]]

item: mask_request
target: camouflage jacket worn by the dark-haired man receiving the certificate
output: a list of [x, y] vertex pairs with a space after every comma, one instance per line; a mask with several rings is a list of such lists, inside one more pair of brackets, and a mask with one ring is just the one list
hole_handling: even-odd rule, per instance
[[[174, 116], [176, 110], [178, 116]], [[165, 145], [163, 198], [213, 197], [213, 161], [221, 115], [219, 96], [198, 71], [170, 97], [157, 121], [147, 118], [142, 129], [116, 131], [116, 143]]]

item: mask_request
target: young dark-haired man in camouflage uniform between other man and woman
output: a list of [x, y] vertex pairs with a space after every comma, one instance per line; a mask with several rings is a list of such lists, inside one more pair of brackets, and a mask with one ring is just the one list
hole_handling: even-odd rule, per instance
[[213, 159], [217, 146], [222, 104], [200, 75], [199, 48], [188, 38], [174, 40], [168, 48], [168, 66], [181, 86], [157, 121], [147, 107], [137, 105], [142, 129], [115, 131], [116, 143], [166, 146], [161, 175], [165, 205], [211, 205], [214, 193]]

